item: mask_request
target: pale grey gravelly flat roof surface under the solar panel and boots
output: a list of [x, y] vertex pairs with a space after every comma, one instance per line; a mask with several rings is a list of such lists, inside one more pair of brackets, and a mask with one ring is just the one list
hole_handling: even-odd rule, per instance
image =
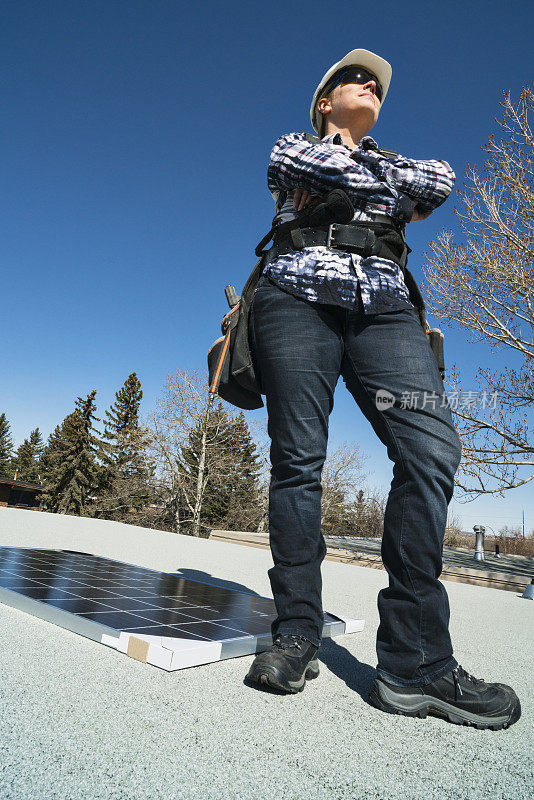
[[[268, 550], [120, 523], [0, 509], [0, 545], [80, 549], [272, 596]], [[325, 611], [365, 619], [324, 640], [298, 695], [246, 686], [253, 656], [168, 673], [0, 604], [2, 800], [527, 800], [534, 795], [534, 602], [446, 583], [455, 656], [509, 683], [522, 717], [478, 731], [366, 702], [387, 574], [323, 562]]]

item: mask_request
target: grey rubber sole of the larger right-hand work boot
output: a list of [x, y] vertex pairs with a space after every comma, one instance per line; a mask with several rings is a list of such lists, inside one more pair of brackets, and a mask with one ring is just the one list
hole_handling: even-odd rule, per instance
[[438, 700], [429, 695], [402, 695], [392, 692], [383, 683], [375, 680], [369, 693], [369, 703], [387, 714], [402, 714], [405, 717], [419, 717], [425, 719], [428, 714], [443, 717], [456, 725], [471, 725], [479, 730], [490, 728], [499, 731], [508, 728], [517, 722], [521, 716], [521, 703], [519, 698], [511, 711], [497, 717], [485, 717], [481, 714], [473, 714], [461, 708]]

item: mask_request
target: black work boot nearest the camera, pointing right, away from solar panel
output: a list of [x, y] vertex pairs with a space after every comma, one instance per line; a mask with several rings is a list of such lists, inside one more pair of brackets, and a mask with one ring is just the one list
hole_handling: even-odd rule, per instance
[[521, 716], [521, 703], [511, 686], [486, 683], [459, 664], [425, 686], [395, 686], [375, 678], [369, 702], [388, 714], [426, 717], [433, 714], [458, 725], [508, 728]]

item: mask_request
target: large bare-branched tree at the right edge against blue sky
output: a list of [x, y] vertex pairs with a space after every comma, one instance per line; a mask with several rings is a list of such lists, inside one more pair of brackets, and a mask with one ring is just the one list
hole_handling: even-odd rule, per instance
[[[534, 137], [528, 118], [534, 93], [523, 88], [517, 109], [509, 91], [503, 97], [499, 124], [505, 138], [495, 142], [490, 136], [482, 148], [490, 154], [486, 175], [481, 179], [470, 171], [473, 186], [460, 193], [466, 213], [455, 210], [465, 244], [454, 244], [452, 232], [442, 230], [423, 269], [429, 311], [471, 331], [474, 341], [488, 343], [492, 352], [504, 349], [510, 362], [519, 361], [517, 369], [510, 363], [498, 375], [479, 368], [482, 391], [476, 392], [462, 393], [453, 369], [453, 391], [447, 394], [462, 440], [456, 483], [471, 497], [503, 496], [534, 478], [526, 413], [534, 404]], [[518, 477], [525, 467], [528, 474]], [[488, 479], [497, 485], [488, 485]]]

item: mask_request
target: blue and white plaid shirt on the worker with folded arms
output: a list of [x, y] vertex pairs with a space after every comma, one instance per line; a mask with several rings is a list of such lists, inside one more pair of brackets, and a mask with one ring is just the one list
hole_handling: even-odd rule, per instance
[[[308, 142], [304, 133], [281, 136], [267, 170], [276, 203], [273, 224], [298, 216], [293, 208], [295, 189], [325, 195], [341, 188], [354, 205], [354, 220], [391, 224], [393, 218], [404, 235], [402, 207], [413, 209], [417, 203], [418, 210], [433, 211], [451, 193], [455, 174], [446, 161], [416, 161], [401, 155], [388, 159], [377, 151], [371, 136], [364, 136], [355, 150], [343, 143], [338, 132], [317, 144]], [[264, 272], [281, 288], [314, 302], [355, 308], [359, 284], [366, 314], [414, 307], [399, 265], [378, 256], [304, 247], [273, 259]]]

